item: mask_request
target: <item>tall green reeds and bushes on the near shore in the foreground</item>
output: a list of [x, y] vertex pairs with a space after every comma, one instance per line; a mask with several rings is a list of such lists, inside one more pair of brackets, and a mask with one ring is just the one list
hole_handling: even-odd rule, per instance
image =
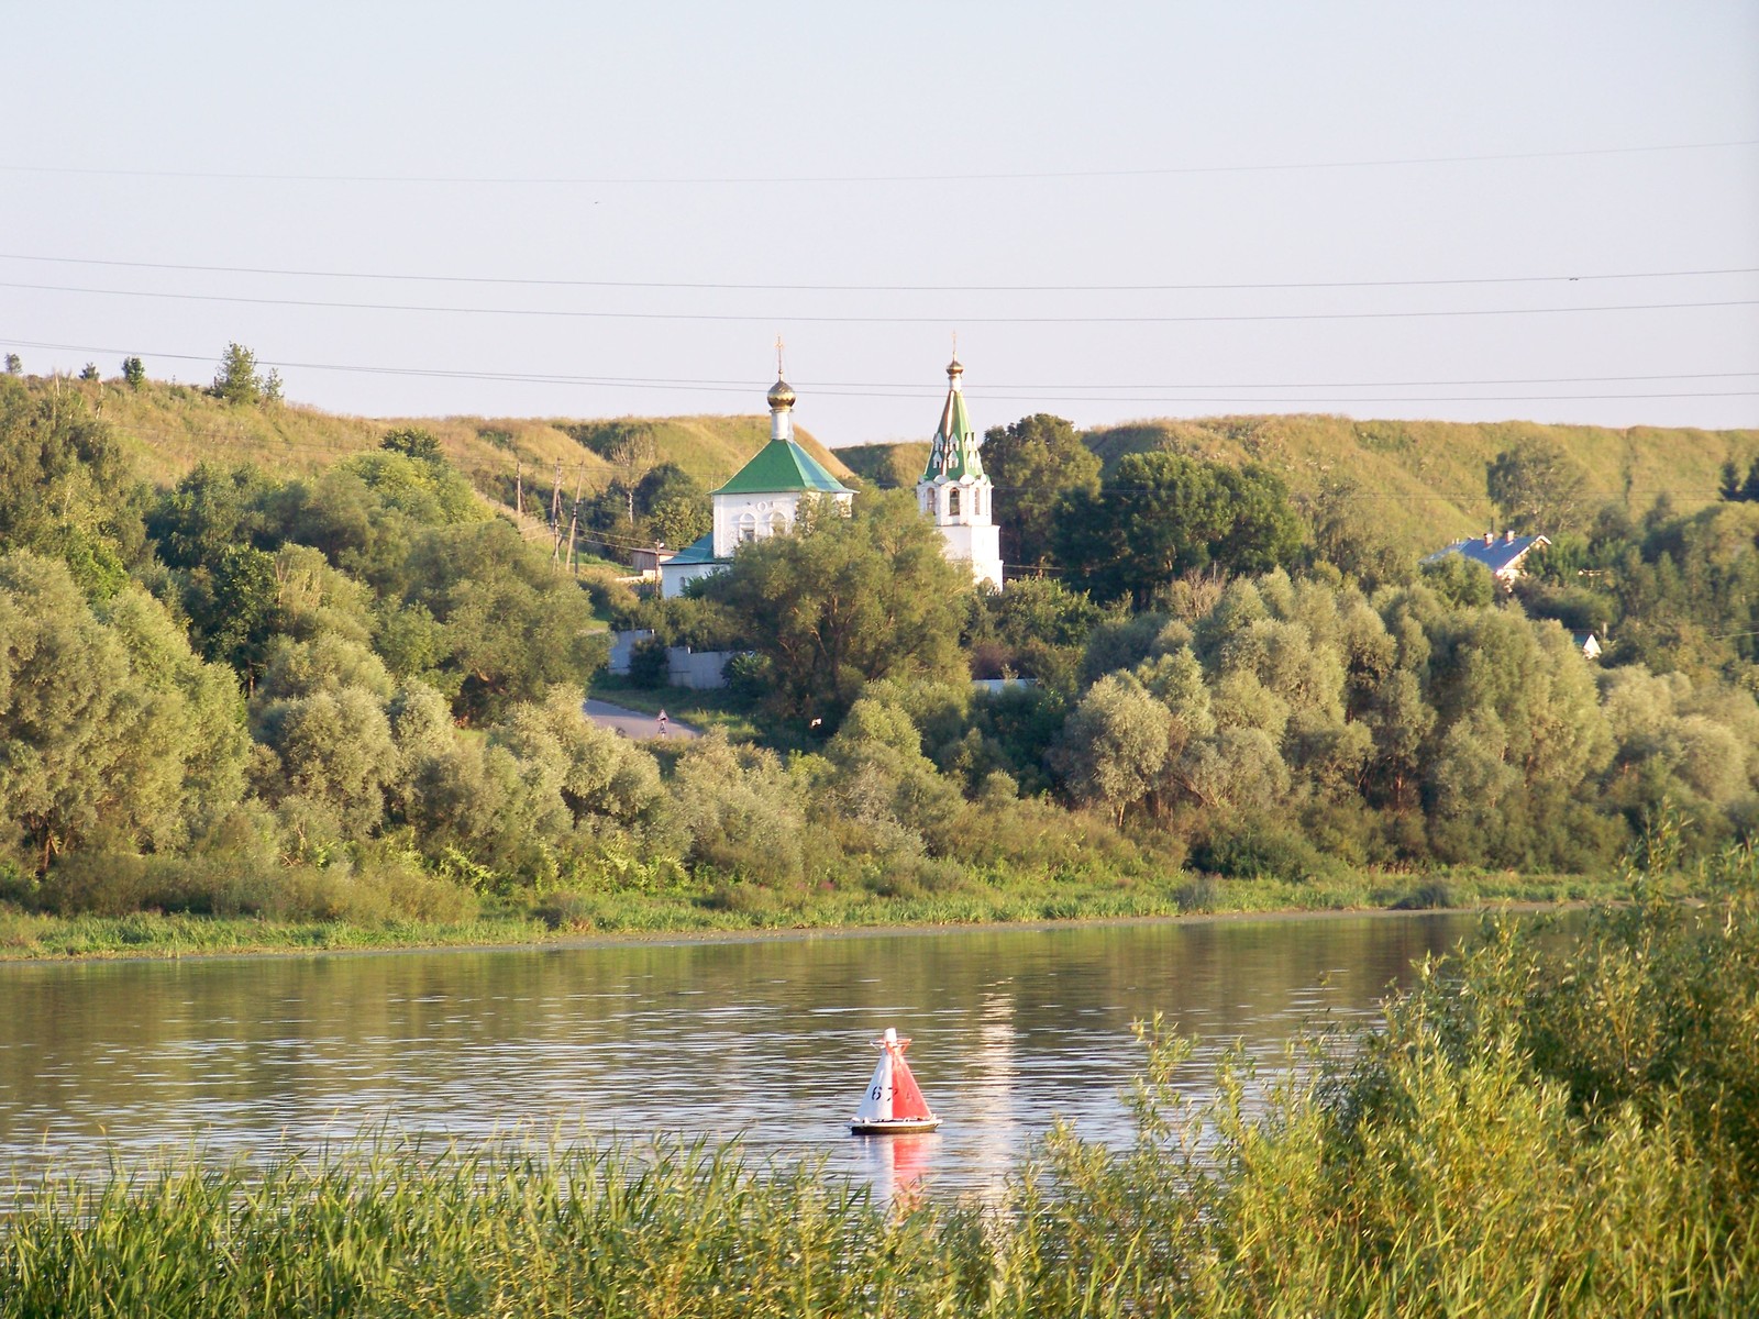
[[1699, 878], [1634, 869], [1580, 941], [1492, 923], [1203, 1104], [1147, 1025], [1136, 1143], [1054, 1133], [1001, 1206], [711, 1145], [186, 1161], [26, 1196], [0, 1315], [1752, 1314], [1759, 865]]

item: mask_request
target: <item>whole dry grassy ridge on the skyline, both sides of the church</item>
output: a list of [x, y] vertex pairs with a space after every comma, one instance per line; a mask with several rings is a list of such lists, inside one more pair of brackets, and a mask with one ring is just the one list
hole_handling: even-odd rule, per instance
[[[478, 491], [510, 501], [515, 464], [528, 494], [547, 491], [558, 464], [563, 489], [580, 482], [603, 489], [619, 475], [653, 463], [675, 463], [711, 489], [737, 471], [769, 438], [767, 417], [339, 417], [317, 408], [236, 406], [193, 385], [146, 382], [33, 382], [44, 392], [81, 394], [134, 452], [139, 471], [171, 484], [201, 461], [257, 463], [278, 475], [322, 470], [339, 457], [375, 448], [394, 426], [433, 431], [447, 457]], [[858, 475], [880, 487], [909, 487], [929, 445], [851, 445], [830, 450], [804, 431], [800, 443], [837, 477]], [[1210, 461], [1258, 461], [1295, 492], [1328, 477], [1349, 477], [1374, 499], [1379, 517], [1412, 550], [1474, 535], [1490, 526], [1485, 466], [1523, 436], [1564, 445], [1588, 471], [1595, 501], [1620, 499], [1634, 514], [1668, 494], [1678, 512], [1717, 498], [1719, 470], [1729, 455], [1741, 466], [1759, 454], [1759, 431], [1687, 427], [1609, 429], [1536, 422], [1400, 422], [1328, 415], [1207, 417], [1145, 420], [1087, 433], [1087, 443], [1115, 464], [1124, 454], [1168, 448]]]

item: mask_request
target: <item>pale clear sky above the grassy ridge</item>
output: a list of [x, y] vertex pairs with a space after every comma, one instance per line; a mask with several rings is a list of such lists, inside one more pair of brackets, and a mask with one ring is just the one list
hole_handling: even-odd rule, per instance
[[1759, 4], [0, 7], [0, 352], [832, 445], [1759, 426]]

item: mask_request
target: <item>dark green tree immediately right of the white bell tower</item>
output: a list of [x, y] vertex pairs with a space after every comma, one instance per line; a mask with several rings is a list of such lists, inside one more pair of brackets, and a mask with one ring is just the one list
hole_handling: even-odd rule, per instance
[[1073, 424], [1048, 412], [985, 431], [983, 470], [996, 482], [1003, 557], [1033, 568], [1055, 557], [1062, 498], [1099, 489], [1099, 455], [1082, 443]]

